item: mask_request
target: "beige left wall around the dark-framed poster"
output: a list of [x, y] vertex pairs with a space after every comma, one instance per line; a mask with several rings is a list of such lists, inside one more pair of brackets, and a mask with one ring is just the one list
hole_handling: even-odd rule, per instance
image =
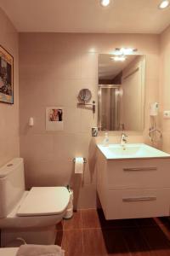
[[14, 105], [0, 102], [0, 166], [19, 152], [19, 61], [18, 33], [0, 9], [0, 44], [14, 56]]

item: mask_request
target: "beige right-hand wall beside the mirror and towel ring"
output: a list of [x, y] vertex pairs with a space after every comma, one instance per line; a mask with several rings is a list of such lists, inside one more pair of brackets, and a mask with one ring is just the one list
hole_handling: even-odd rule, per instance
[[162, 149], [170, 153], [170, 119], [163, 118], [163, 110], [170, 110], [170, 26], [161, 33], [160, 72]]

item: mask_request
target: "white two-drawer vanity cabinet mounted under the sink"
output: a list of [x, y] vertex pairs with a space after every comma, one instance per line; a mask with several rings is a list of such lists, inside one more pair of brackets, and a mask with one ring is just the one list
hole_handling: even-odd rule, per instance
[[98, 150], [97, 192], [106, 219], [170, 215], [170, 158], [107, 160]]

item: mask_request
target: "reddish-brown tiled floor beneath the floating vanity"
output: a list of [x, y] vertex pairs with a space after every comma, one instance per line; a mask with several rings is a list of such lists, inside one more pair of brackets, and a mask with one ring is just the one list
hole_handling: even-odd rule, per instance
[[170, 256], [170, 218], [106, 221], [94, 209], [57, 225], [65, 256]]

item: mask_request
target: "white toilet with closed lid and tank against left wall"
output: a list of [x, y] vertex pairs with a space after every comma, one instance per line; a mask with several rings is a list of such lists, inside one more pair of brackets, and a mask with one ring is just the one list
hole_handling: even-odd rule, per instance
[[70, 193], [65, 187], [25, 190], [23, 159], [0, 168], [1, 246], [17, 237], [27, 243], [53, 244], [57, 224], [65, 215]]

